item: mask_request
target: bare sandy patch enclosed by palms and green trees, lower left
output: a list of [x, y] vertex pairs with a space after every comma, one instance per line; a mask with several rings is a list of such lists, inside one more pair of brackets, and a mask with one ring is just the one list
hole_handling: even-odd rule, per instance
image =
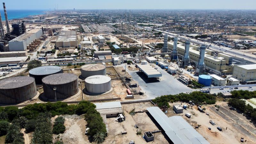
[[[57, 116], [52, 118], [52, 122]], [[85, 125], [86, 121], [84, 120], [84, 116], [77, 115], [64, 115], [66, 126], [66, 131], [63, 134], [59, 134], [60, 138], [58, 139], [58, 135], [53, 134], [53, 143], [62, 140], [65, 144], [73, 144], [73, 143], [90, 143], [88, 137], [85, 135]]]

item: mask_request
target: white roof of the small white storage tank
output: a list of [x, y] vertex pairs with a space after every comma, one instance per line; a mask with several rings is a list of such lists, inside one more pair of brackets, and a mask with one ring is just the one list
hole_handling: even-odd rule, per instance
[[89, 76], [85, 79], [86, 83], [89, 84], [105, 84], [109, 82], [111, 78], [109, 76], [103, 76], [103, 75], [95, 75], [95, 76]]

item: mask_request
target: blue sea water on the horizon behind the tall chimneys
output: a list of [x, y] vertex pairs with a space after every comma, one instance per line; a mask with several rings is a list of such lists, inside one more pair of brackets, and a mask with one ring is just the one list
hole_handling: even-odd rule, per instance
[[[38, 14], [44, 14], [46, 10], [6, 10], [8, 20], [17, 19], [17, 18], [25, 18], [30, 15], [38, 15]], [[1, 10], [1, 16], [2, 20], [5, 20], [4, 17], [4, 10]]]

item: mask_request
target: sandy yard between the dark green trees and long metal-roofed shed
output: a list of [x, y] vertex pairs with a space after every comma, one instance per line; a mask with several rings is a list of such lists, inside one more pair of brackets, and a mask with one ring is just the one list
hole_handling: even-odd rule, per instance
[[[104, 144], [129, 143], [130, 140], [134, 140], [138, 144], [146, 144], [147, 142], [143, 139], [143, 133], [158, 130], [158, 128], [145, 112], [136, 113], [134, 116], [131, 116], [129, 112], [133, 108], [135, 108], [135, 111], [142, 111], [152, 106], [150, 102], [123, 104], [124, 116], [126, 117], [125, 121], [118, 123], [115, 121], [116, 118], [107, 118], [109, 136], [106, 138]], [[139, 126], [138, 129], [134, 127], [135, 124]], [[142, 134], [137, 135], [137, 130], [141, 131]], [[121, 135], [122, 131], [127, 131], [127, 134]], [[155, 140], [148, 143], [168, 144], [168, 141], [161, 132], [158, 132], [155, 133]]]

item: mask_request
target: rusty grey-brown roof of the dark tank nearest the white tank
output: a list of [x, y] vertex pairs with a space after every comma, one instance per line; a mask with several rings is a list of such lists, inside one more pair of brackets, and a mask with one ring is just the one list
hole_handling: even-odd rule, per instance
[[75, 81], [78, 78], [75, 74], [70, 73], [59, 73], [53, 74], [49, 76], [45, 76], [42, 79], [44, 84], [67, 84]]

